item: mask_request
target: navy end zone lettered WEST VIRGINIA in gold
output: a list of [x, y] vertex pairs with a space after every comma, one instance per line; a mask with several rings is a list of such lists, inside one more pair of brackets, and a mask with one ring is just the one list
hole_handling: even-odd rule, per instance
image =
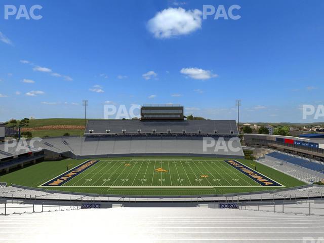
[[254, 181], [258, 182], [262, 186], [282, 186], [281, 184], [261, 175], [260, 173], [242, 165], [236, 160], [224, 160], [227, 164], [234, 167], [236, 170], [242, 172], [243, 174], [247, 175]]

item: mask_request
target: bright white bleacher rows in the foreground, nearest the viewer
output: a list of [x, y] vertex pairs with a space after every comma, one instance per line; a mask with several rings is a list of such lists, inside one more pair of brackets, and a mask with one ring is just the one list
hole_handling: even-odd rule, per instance
[[4, 242], [286, 242], [321, 239], [324, 218], [233, 209], [111, 208], [9, 215]]

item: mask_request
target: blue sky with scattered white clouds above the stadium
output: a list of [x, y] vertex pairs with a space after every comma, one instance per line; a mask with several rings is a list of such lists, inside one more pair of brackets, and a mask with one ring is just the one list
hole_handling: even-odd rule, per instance
[[[41, 5], [40, 20], [4, 18]], [[239, 5], [238, 20], [203, 19], [203, 5]], [[103, 104], [182, 104], [241, 121], [302, 119], [320, 105], [323, 1], [2, 1], [0, 121], [103, 118]], [[180, 20], [179, 20], [180, 19]], [[178, 22], [180, 21], [180, 25]]]

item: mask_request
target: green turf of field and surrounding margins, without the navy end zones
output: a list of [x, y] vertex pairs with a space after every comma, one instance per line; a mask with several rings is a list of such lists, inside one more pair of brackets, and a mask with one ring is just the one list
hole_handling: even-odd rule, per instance
[[[195, 195], [225, 194], [304, 185], [284, 173], [257, 163], [257, 172], [282, 186], [262, 186], [223, 159], [202, 157], [132, 157], [98, 159], [97, 164], [60, 186], [42, 185], [87, 159], [44, 161], [0, 176], [1, 182], [51, 190], [98, 194]], [[255, 161], [237, 159], [254, 169]], [[161, 168], [161, 169], [159, 169]], [[41, 187], [40, 187], [41, 186]]]

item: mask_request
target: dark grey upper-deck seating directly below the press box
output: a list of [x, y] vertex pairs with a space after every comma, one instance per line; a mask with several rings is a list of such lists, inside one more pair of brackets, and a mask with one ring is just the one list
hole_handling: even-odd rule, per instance
[[[154, 131], [154, 132], [153, 132]], [[107, 134], [207, 134], [238, 136], [235, 120], [88, 120], [85, 136]]]

